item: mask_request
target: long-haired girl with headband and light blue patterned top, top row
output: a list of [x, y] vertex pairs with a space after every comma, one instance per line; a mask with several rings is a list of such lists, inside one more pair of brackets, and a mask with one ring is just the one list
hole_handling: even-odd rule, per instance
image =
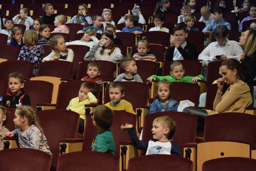
[[66, 23], [77, 23], [81, 24], [85, 27], [88, 27], [89, 24], [93, 23], [92, 17], [89, 14], [89, 11], [87, 9], [87, 6], [85, 4], [81, 4], [78, 7], [78, 14], [76, 16], [73, 16], [72, 19], [70, 19]]

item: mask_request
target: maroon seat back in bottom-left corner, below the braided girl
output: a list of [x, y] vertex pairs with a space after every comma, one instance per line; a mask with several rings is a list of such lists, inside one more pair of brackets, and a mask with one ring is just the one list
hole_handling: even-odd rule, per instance
[[0, 155], [5, 156], [1, 159], [0, 170], [20, 170], [20, 166], [26, 170], [50, 170], [52, 160], [46, 152], [29, 148], [5, 149], [0, 151]]

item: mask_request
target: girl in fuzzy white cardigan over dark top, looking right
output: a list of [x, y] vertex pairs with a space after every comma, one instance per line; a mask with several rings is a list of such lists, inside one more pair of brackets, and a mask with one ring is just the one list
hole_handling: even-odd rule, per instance
[[63, 60], [73, 62], [74, 52], [72, 49], [67, 49], [65, 40], [62, 35], [55, 35], [52, 38], [52, 52], [43, 58], [44, 60]]

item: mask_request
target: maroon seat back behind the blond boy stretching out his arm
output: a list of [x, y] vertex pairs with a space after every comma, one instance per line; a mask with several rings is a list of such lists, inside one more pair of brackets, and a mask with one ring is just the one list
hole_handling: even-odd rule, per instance
[[[196, 140], [197, 117], [184, 112], [158, 112], [146, 115], [144, 118], [142, 142], [152, 139], [152, 125], [154, 119], [160, 116], [169, 116], [176, 122], [176, 128], [169, 136], [169, 140], [176, 141], [183, 156], [183, 144], [193, 143]], [[186, 129], [184, 129], [186, 128]]]

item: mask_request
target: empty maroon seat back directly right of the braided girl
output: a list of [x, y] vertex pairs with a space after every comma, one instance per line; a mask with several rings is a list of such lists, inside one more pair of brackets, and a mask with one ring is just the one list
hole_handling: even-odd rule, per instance
[[66, 109], [42, 110], [37, 114], [53, 155], [51, 165], [57, 167], [59, 140], [77, 137], [79, 114]]

